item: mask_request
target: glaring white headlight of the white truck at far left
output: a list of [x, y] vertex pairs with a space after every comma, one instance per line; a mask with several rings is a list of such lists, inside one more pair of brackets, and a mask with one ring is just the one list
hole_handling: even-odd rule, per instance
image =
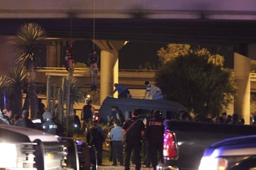
[[15, 144], [0, 143], [0, 168], [13, 168], [17, 164], [17, 148]]

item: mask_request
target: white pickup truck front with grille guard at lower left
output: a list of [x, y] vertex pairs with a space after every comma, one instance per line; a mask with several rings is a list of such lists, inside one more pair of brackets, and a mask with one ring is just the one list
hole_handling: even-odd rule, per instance
[[0, 119], [0, 169], [97, 169], [90, 149], [83, 142]]

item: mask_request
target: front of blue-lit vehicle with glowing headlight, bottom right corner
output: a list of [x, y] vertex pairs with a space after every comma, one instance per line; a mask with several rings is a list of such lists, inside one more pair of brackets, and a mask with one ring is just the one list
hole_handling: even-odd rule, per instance
[[256, 136], [234, 137], [210, 145], [198, 168], [204, 169], [256, 169]]

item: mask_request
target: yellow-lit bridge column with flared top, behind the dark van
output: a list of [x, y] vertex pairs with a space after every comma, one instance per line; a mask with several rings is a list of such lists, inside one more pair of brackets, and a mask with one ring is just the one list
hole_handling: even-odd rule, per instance
[[100, 104], [113, 92], [114, 83], [118, 83], [119, 60], [118, 51], [124, 41], [93, 41], [101, 50], [100, 54]]

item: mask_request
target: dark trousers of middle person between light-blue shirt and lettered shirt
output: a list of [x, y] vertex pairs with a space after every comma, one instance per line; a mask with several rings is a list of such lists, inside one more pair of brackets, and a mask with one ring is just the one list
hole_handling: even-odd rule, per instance
[[141, 157], [140, 157], [140, 149], [142, 148], [140, 142], [134, 142], [130, 143], [127, 142], [126, 147], [124, 148], [125, 152], [125, 160], [124, 160], [124, 167], [126, 170], [130, 169], [130, 156], [132, 154], [132, 150], [134, 151], [134, 157], [135, 157], [135, 169], [140, 170], [141, 166]]

